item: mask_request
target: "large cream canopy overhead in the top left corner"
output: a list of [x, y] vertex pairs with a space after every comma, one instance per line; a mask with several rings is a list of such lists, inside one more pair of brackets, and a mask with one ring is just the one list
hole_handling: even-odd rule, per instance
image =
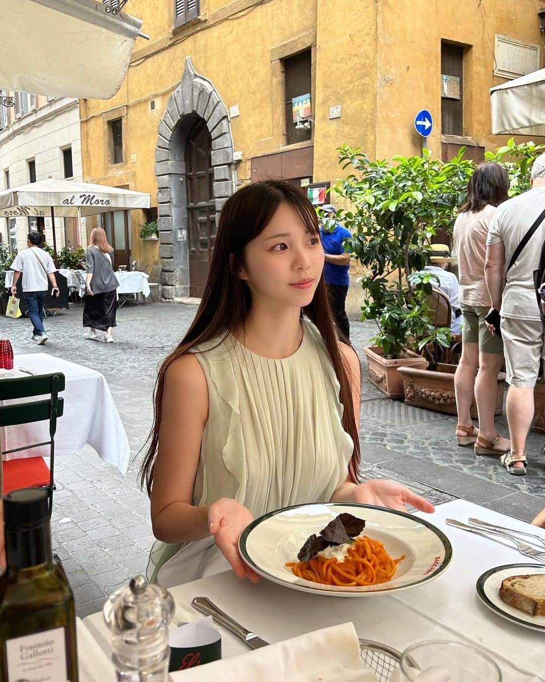
[[[142, 21], [109, 0], [2, 0], [0, 89], [108, 100], [121, 87]], [[113, 12], [112, 12], [113, 10]]]

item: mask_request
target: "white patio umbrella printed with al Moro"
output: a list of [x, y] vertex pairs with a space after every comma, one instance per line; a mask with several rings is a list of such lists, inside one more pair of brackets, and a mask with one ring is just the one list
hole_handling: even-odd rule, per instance
[[105, 211], [149, 209], [150, 194], [49, 178], [0, 192], [0, 216], [3, 218], [51, 218], [53, 250], [57, 255], [55, 215], [62, 218], [96, 216]]

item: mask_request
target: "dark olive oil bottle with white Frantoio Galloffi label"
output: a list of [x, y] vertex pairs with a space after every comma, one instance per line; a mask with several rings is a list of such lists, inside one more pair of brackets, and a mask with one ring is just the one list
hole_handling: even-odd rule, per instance
[[0, 576], [0, 680], [78, 682], [74, 595], [52, 559], [48, 494], [3, 499], [7, 569]]

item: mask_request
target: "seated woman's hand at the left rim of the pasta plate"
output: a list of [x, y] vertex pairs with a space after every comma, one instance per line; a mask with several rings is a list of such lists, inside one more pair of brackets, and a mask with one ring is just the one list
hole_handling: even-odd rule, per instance
[[239, 578], [249, 578], [251, 582], [258, 582], [258, 574], [240, 559], [238, 553], [238, 539], [252, 521], [253, 516], [249, 509], [226, 497], [208, 507], [208, 527], [214, 536], [215, 544]]

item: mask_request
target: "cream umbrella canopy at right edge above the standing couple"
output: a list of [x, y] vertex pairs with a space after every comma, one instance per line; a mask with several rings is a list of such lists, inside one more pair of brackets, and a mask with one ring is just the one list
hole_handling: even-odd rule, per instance
[[494, 135], [545, 135], [545, 69], [490, 89]]

